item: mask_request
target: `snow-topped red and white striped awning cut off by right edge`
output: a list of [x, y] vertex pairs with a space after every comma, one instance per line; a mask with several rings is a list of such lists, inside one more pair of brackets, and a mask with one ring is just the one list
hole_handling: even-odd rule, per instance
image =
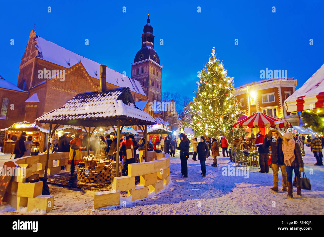
[[288, 112], [324, 107], [324, 64], [285, 101]]

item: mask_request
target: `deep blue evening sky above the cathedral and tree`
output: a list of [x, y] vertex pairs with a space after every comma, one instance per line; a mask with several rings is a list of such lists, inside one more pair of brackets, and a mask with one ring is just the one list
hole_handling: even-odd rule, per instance
[[[163, 65], [163, 91], [194, 96], [197, 72], [208, 62], [213, 47], [228, 76], [235, 78], [235, 86], [260, 80], [260, 70], [267, 67], [287, 70], [299, 88], [324, 63], [324, 3], [320, 0], [35, 0], [1, 5], [0, 74], [14, 84], [34, 23], [42, 38], [130, 75], [148, 8], [155, 50]], [[52, 13], [47, 12], [48, 6]], [[198, 6], [201, 13], [197, 13]], [[276, 13], [272, 13], [272, 6]], [[160, 39], [164, 45], [159, 44]], [[309, 45], [310, 39], [314, 45]]]

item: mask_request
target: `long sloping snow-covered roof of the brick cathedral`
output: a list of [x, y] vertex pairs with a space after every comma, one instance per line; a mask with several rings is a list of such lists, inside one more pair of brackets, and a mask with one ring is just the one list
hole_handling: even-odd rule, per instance
[[[81, 62], [82, 65], [85, 67], [87, 73], [91, 77], [100, 80], [100, 63], [92, 61], [67, 49], [64, 49], [63, 47], [54, 44], [51, 41], [45, 40], [40, 36], [36, 37], [37, 47], [39, 51], [37, 56], [38, 58], [44, 59], [46, 61], [55, 63], [66, 68], [70, 68], [78, 62]], [[106, 81], [108, 83], [111, 83], [118, 87], [129, 87], [131, 91], [146, 96], [143, 87], [139, 81], [125, 76], [122, 73], [116, 72], [115, 70], [112, 70], [109, 67], [107, 67], [106, 77]]]

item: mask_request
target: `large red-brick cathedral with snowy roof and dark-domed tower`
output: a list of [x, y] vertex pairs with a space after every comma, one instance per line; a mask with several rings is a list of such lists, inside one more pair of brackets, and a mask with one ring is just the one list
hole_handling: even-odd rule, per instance
[[[132, 77], [107, 67], [107, 89], [129, 87], [134, 101], [161, 99], [162, 67], [154, 50], [149, 18], [143, 31], [142, 48], [131, 64]], [[97, 91], [99, 82], [100, 63], [45, 40], [32, 30], [20, 61], [17, 86], [0, 76], [0, 129], [15, 122], [33, 122], [78, 93]], [[154, 117], [147, 107], [144, 110]]]

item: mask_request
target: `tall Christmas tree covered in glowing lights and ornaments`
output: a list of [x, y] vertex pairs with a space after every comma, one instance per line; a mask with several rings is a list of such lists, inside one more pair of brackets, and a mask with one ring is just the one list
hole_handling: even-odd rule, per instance
[[214, 50], [209, 62], [201, 70], [198, 90], [194, 91], [196, 98], [191, 103], [191, 127], [196, 136], [225, 135], [232, 141], [232, 125], [243, 112], [238, 109], [234, 96], [233, 78], [227, 76], [224, 64], [216, 58]]

